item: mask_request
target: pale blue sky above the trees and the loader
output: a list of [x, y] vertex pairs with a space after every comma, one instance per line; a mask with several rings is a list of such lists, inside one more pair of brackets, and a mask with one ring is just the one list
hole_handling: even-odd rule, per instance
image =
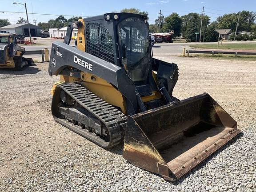
[[[26, 2], [28, 12], [70, 15], [65, 16], [67, 19], [73, 15], [81, 16], [82, 13], [85, 17], [120, 11], [123, 8], [138, 8], [149, 13], [150, 24], [158, 18], [160, 9], [164, 16], [172, 12], [177, 12], [182, 16], [189, 12], [201, 14], [204, 6], [205, 14], [211, 17], [211, 21], [225, 13], [242, 10], [256, 11], [256, 0], [0, 0], [0, 19], [8, 19], [12, 24], [15, 24], [20, 16], [26, 18], [26, 15], [22, 13], [10, 13], [25, 12], [23, 5], [12, 4], [13, 2], [22, 4]], [[33, 19], [36, 19], [38, 23], [47, 22], [56, 17], [28, 15], [29, 23], [32, 23]]]

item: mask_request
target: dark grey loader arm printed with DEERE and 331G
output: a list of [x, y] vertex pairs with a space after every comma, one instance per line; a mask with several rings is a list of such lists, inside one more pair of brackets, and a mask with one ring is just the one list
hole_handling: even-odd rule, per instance
[[[106, 80], [125, 97], [127, 113], [131, 115], [137, 113], [136, 87], [124, 68], [120, 68], [87, 52], [82, 52], [68, 44], [62, 42], [52, 43], [48, 68], [49, 75], [64, 74], [66, 68], [76, 68], [80, 72], [89, 72]], [[80, 73], [75, 77], [80, 78]]]

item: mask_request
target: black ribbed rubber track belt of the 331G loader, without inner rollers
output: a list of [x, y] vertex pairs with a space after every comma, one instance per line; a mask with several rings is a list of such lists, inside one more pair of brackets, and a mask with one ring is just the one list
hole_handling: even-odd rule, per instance
[[111, 148], [123, 141], [127, 116], [79, 83], [63, 83], [56, 87], [60, 87], [88, 112], [103, 122], [108, 128], [110, 141], [106, 142], [99, 136], [95, 136], [92, 132], [88, 132], [67, 120], [54, 116], [56, 121], [103, 148]]

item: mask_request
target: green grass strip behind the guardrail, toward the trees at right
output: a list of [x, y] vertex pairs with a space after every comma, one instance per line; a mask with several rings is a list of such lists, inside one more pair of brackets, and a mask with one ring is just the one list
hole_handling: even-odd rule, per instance
[[190, 45], [193, 48], [208, 48], [208, 49], [256, 49], [256, 43], [219, 43], [218, 44], [194, 44]]

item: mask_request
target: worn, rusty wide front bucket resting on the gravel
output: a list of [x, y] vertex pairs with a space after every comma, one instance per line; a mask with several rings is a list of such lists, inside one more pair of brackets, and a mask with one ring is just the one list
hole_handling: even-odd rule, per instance
[[128, 116], [123, 157], [174, 181], [240, 132], [207, 93]]

